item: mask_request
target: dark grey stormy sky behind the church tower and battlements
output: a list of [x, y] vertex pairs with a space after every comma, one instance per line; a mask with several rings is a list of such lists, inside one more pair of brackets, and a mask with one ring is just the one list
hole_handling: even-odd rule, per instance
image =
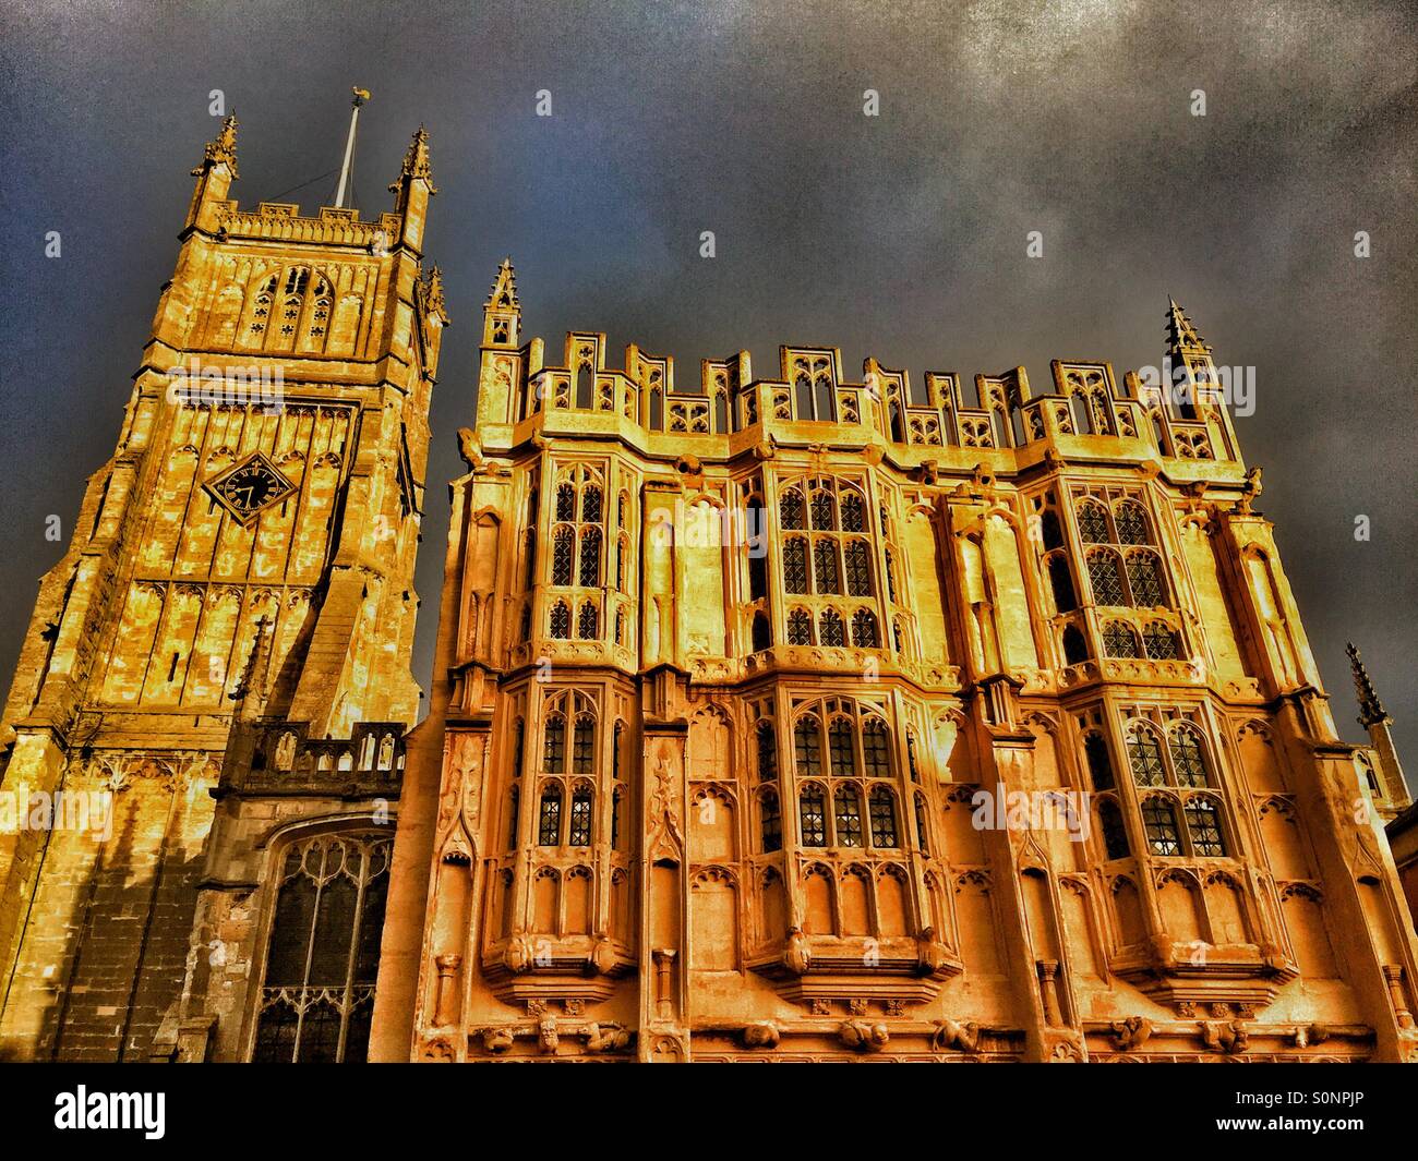
[[[835, 343], [912, 370], [1161, 354], [1174, 293], [1256, 369], [1238, 422], [1350, 737], [1346, 636], [1409, 763], [1418, 27], [1392, 4], [9, 6], [0, 661], [81, 475], [111, 452], [170, 275], [187, 170], [242, 122], [237, 196], [384, 208], [411, 129], [441, 187], [430, 257], [455, 327], [434, 401], [417, 672], [427, 682], [475, 310], [510, 254], [530, 333], [610, 332], [679, 363]], [[533, 116], [550, 89], [554, 116]], [[862, 91], [881, 116], [862, 116]], [[1207, 116], [1188, 112], [1204, 89]], [[64, 257], [43, 258], [60, 230]], [[718, 258], [698, 257], [702, 230]], [[1028, 259], [1025, 234], [1044, 232]], [[1374, 257], [1358, 261], [1366, 230]], [[1353, 539], [1354, 516], [1373, 539]]]

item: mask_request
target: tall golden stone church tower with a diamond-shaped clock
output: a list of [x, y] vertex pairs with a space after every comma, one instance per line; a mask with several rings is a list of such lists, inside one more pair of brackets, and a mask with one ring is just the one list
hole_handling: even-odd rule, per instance
[[289, 1059], [302, 1029], [311, 1059], [363, 1055], [447, 322], [428, 142], [362, 221], [241, 208], [235, 135], [193, 170], [118, 447], [4, 710], [6, 791], [109, 811], [0, 834], [9, 1058]]

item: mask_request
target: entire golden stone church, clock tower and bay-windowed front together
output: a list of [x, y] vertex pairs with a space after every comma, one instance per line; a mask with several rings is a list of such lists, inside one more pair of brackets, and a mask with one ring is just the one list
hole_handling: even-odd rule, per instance
[[1177, 303], [1180, 391], [678, 391], [549, 363], [503, 264], [410, 730], [427, 136], [374, 221], [235, 172], [228, 120], [4, 710], [55, 818], [0, 828], [0, 1053], [1415, 1058], [1388, 719], [1356, 654], [1337, 737]]

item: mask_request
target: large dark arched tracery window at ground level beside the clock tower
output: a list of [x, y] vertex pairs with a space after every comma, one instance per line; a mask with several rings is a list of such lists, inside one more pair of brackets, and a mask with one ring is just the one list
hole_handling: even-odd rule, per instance
[[252, 1060], [366, 1059], [391, 848], [384, 835], [325, 834], [286, 849]]

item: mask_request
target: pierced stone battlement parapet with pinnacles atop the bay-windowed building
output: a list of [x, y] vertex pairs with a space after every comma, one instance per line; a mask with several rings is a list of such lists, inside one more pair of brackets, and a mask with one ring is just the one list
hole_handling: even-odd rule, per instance
[[[1055, 359], [1054, 393], [1038, 397], [1024, 367], [977, 374], [968, 393], [959, 373], [929, 371], [923, 391], [913, 391], [909, 371], [868, 357], [861, 380], [849, 381], [839, 347], [784, 344], [776, 378], [754, 378], [744, 350], [705, 359], [696, 391], [675, 388], [672, 357], [634, 343], [625, 349], [624, 369], [607, 367], [605, 335], [598, 332], [569, 332], [563, 361], [552, 364], [543, 340], [516, 346], [520, 305], [510, 262], [499, 269], [484, 310], [478, 424], [485, 434], [489, 427], [535, 421], [552, 434], [569, 424], [614, 437], [628, 425], [641, 442], [669, 434], [710, 458], [718, 454], [715, 439], [756, 430], [780, 444], [876, 442], [971, 452], [1052, 445], [1065, 455], [1241, 461], [1210, 347], [1174, 302], [1164, 360], [1177, 367], [1171, 384], [1144, 381], [1136, 371], [1119, 384], [1112, 363]], [[492, 437], [493, 442], [499, 439]]]

